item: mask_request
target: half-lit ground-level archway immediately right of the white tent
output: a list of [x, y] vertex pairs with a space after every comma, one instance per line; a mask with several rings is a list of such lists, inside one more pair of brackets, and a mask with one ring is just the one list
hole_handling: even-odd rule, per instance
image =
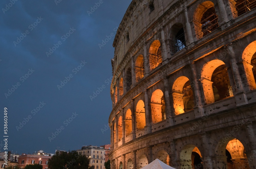
[[180, 152], [180, 164], [183, 168], [198, 168], [203, 169], [202, 155], [199, 149], [192, 144], [189, 144], [183, 148]]

